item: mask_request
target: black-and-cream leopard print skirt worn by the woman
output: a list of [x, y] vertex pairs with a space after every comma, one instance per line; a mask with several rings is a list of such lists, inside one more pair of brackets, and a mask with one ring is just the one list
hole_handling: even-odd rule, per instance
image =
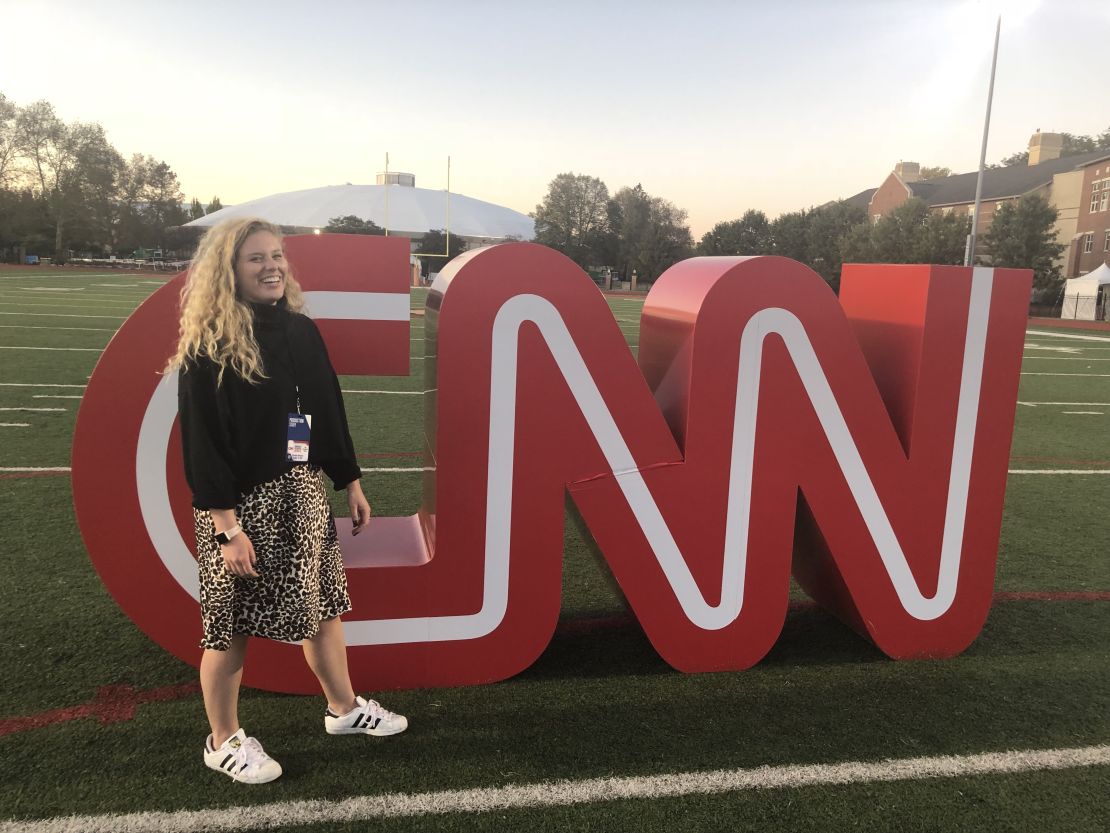
[[208, 511], [193, 510], [201, 578], [201, 648], [226, 651], [234, 634], [296, 642], [351, 610], [327, 488], [315, 465], [294, 465], [240, 498], [235, 514], [254, 545], [259, 578], [223, 566]]

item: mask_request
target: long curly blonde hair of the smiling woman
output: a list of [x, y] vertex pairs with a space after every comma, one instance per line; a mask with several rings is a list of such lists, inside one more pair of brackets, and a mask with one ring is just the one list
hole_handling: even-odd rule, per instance
[[[282, 239], [281, 230], [256, 217], [233, 218], [213, 225], [201, 238], [181, 290], [181, 322], [178, 351], [165, 372], [184, 368], [201, 355], [220, 367], [216, 383], [231, 368], [242, 379], [256, 384], [265, 379], [259, 342], [254, 339], [250, 305], [235, 289], [235, 261], [244, 241], [258, 231]], [[304, 308], [301, 284], [285, 263], [285, 302], [291, 312]]]

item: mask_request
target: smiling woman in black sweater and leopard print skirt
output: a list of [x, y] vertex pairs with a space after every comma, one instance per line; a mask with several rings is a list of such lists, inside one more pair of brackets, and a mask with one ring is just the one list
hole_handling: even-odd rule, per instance
[[181, 295], [179, 371], [185, 478], [201, 576], [204, 763], [264, 783], [281, 766], [239, 725], [248, 636], [303, 640], [331, 734], [389, 735], [408, 723], [356, 696], [340, 615], [351, 610], [321, 471], [345, 489], [354, 533], [370, 504], [339, 380], [279, 229], [234, 219], [201, 240]]

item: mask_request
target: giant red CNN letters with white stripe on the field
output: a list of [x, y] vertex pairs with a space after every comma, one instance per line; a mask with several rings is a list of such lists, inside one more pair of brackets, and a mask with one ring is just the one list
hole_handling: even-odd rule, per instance
[[[336, 369], [407, 372], [405, 243], [286, 247]], [[196, 662], [176, 382], [157, 375], [182, 280], [98, 364], [73, 483], [113, 596]], [[698, 258], [655, 283], [634, 357], [563, 255], [512, 243], [457, 258], [427, 300], [423, 505], [359, 539], [340, 524], [355, 684], [527, 668], [558, 616], [567, 492], [679, 670], [758, 662], [791, 568], [888, 655], [958, 653], [990, 605], [1030, 282], [1027, 270], [849, 265], [837, 299], [787, 259]], [[315, 691], [299, 654], [255, 641], [246, 682]]]

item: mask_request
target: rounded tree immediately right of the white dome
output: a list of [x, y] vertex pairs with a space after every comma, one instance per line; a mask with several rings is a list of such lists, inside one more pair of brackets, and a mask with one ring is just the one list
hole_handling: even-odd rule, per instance
[[602, 180], [561, 173], [547, 185], [532, 217], [536, 242], [556, 249], [578, 265], [596, 265], [608, 232], [609, 189]]

